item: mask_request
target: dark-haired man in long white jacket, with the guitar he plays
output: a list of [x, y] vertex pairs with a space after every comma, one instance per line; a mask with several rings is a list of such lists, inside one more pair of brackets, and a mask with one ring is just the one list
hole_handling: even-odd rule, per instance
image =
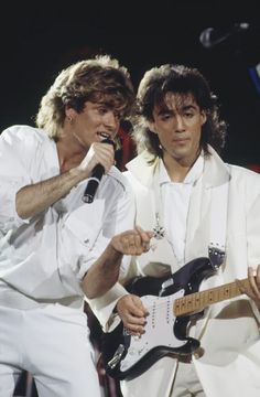
[[[126, 175], [137, 224], [154, 235], [121, 269], [112, 313], [123, 323], [121, 356], [104, 354], [124, 397], [259, 396], [260, 175], [220, 159], [225, 135], [199, 71], [166, 64], [144, 74]], [[120, 324], [112, 330], [101, 301], [112, 341]]]

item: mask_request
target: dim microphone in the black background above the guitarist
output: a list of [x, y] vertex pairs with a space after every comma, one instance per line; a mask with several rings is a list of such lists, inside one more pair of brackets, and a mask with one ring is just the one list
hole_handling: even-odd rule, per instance
[[205, 49], [212, 49], [228, 37], [248, 30], [248, 28], [249, 23], [247, 22], [235, 23], [228, 31], [218, 31], [214, 28], [207, 28], [201, 33], [199, 41]]

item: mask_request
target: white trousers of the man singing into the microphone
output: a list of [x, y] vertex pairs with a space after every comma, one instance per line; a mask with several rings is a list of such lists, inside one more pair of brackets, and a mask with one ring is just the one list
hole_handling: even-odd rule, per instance
[[0, 397], [13, 396], [22, 369], [40, 397], [100, 397], [86, 314], [57, 303], [0, 307]]

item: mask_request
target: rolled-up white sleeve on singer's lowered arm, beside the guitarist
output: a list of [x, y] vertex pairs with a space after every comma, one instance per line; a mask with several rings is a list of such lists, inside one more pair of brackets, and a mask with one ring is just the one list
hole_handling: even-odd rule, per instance
[[82, 204], [59, 224], [58, 260], [61, 272], [69, 267], [80, 283], [110, 239], [133, 227], [132, 191], [106, 178], [91, 204]]

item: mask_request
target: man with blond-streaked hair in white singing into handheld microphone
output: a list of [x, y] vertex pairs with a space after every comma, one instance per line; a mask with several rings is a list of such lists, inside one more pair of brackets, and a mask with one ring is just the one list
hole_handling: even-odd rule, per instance
[[151, 238], [113, 165], [133, 101], [127, 68], [96, 56], [57, 75], [36, 128], [0, 136], [0, 397], [22, 369], [40, 397], [100, 396], [84, 299], [112, 293]]

